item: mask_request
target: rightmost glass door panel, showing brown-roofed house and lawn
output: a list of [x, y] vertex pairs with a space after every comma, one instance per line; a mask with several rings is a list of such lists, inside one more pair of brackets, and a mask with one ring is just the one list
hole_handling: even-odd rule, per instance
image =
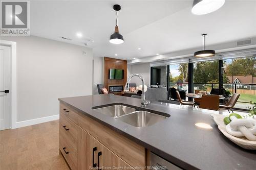
[[225, 59], [223, 87], [230, 94], [239, 93], [236, 108], [252, 107], [256, 102], [256, 57]]

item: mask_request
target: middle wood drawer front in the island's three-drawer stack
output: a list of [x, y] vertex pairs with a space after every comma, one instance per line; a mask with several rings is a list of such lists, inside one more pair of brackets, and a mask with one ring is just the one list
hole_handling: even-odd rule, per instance
[[59, 133], [77, 151], [78, 126], [62, 112], [59, 113]]

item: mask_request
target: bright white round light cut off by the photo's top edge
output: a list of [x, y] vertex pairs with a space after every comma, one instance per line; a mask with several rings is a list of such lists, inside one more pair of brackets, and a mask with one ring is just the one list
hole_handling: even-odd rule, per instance
[[220, 9], [225, 0], [194, 0], [191, 12], [196, 15], [204, 15]]

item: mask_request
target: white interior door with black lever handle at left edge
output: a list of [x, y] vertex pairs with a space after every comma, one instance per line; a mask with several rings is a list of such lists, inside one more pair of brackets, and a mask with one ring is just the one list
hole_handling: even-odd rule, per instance
[[[11, 48], [0, 45], [0, 130], [11, 128]], [[9, 90], [9, 91], [8, 91]]]

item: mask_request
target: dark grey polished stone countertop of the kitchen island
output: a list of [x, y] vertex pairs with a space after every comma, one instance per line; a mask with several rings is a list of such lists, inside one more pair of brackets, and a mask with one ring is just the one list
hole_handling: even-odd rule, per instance
[[[256, 151], [240, 148], [218, 129], [211, 114], [219, 111], [155, 102], [140, 107], [140, 99], [113, 94], [61, 98], [81, 113], [110, 127], [148, 150], [184, 169], [255, 169]], [[170, 117], [149, 127], [138, 128], [101, 114], [92, 107], [121, 103], [139, 109], [163, 112]], [[195, 126], [205, 123], [212, 129]]]

